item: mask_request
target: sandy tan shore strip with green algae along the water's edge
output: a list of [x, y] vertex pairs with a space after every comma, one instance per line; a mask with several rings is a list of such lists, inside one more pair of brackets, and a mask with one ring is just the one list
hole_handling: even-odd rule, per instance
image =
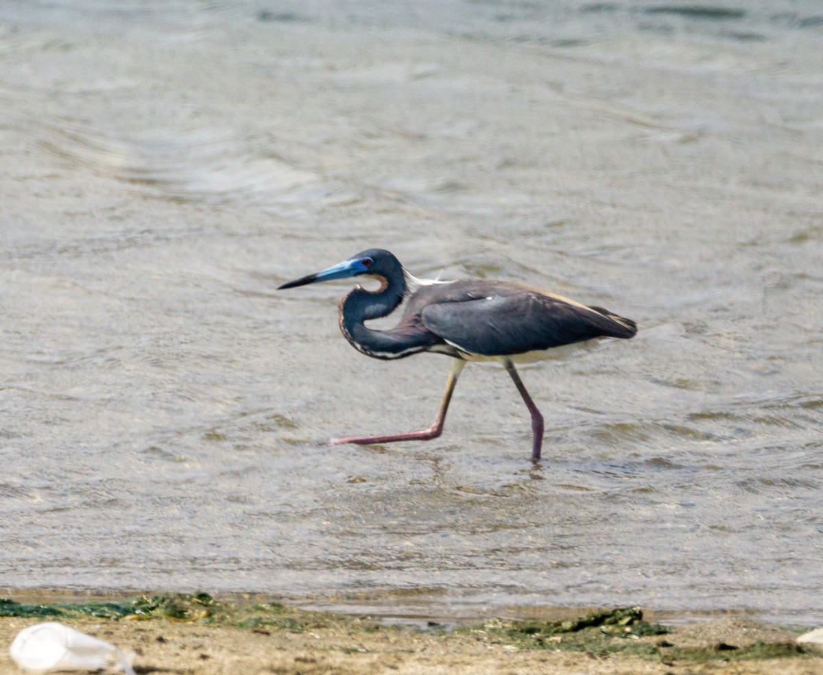
[[[643, 634], [653, 625], [633, 622], [630, 626], [589, 626], [549, 636], [541, 631], [546, 626], [556, 627], [558, 622], [487, 620], [451, 630], [442, 626], [421, 629], [387, 626], [370, 617], [307, 613], [261, 603], [209, 603], [206, 608], [184, 608], [184, 613], [182, 619], [148, 613], [114, 620], [70, 616], [69, 612], [46, 620], [69, 623], [132, 652], [137, 673], [823, 672], [823, 658], [797, 650], [796, 632], [744, 617], [667, 626], [667, 632], [658, 635]], [[43, 620], [0, 618], [0, 643], [9, 645], [18, 631]], [[0, 651], [0, 673], [15, 672], [7, 650]]]

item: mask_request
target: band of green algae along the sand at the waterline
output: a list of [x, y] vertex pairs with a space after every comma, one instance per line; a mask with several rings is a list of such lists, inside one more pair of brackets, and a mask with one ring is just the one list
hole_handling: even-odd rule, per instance
[[[430, 629], [387, 625], [378, 618], [309, 612], [273, 602], [221, 601], [207, 593], [138, 595], [111, 601], [79, 603], [17, 603], [0, 599], [0, 617], [41, 617], [81, 620], [87, 617], [114, 621], [191, 622], [198, 626], [233, 627], [254, 632], [306, 631], [333, 628], [348, 635], [374, 631], [419, 631], [449, 639], [477, 640], [516, 650], [560, 650], [587, 654], [623, 654], [663, 663], [781, 659], [810, 655], [785, 636], [731, 644], [708, 640], [700, 645], [678, 645], [677, 628], [645, 622], [639, 607], [588, 613], [573, 619], [502, 620], [458, 626], [451, 631], [439, 624]], [[670, 641], [671, 640], [671, 641]]]

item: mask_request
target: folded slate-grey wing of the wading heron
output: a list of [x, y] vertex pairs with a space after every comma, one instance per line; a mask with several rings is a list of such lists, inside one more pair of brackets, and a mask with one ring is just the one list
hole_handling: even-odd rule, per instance
[[421, 308], [421, 319], [443, 340], [482, 356], [524, 354], [604, 336], [627, 338], [636, 331], [634, 321], [600, 307], [532, 290], [428, 304]]

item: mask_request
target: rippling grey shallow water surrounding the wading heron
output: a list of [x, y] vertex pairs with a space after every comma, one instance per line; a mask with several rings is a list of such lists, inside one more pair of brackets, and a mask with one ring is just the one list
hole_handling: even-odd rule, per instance
[[[0, 585], [821, 622], [821, 39], [811, 0], [4, 3]], [[640, 332], [523, 368], [538, 467], [476, 364], [436, 441], [324, 446], [448, 372], [274, 290], [375, 246]]]

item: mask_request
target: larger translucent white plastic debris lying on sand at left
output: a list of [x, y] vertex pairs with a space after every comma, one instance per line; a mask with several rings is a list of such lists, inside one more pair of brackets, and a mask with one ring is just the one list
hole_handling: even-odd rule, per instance
[[117, 647], [58, 622], [24, 628], [9, 653], [18, 666], [33, 673], [119, 667], [126, 675], [135, 675], [130, 659]]

